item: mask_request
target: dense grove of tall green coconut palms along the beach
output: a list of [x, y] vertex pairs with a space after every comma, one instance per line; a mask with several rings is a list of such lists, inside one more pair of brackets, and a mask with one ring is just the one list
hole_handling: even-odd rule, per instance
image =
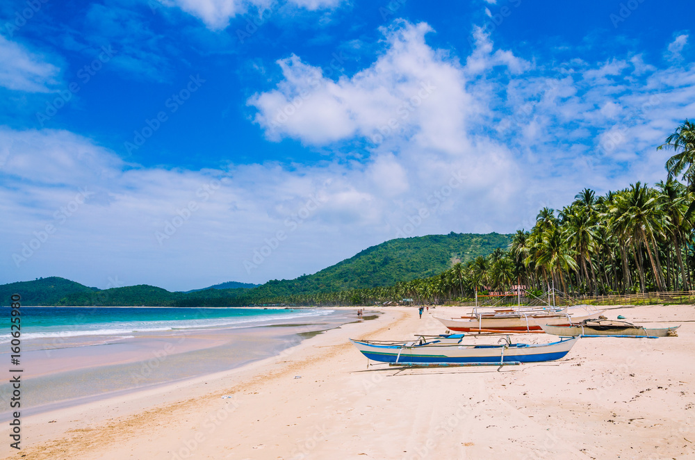
[[[543, 208], [529, 231], [437, 277], [395, 286], [425, 302], [523, 286], [532, 295], [611, 295], [690, 290], [695, 268], [695, 126], [685, 120], [656, 149], [674, 152], [664, 180], [596, 195], [584, 189], [562, 209]], [[398, 296], [397, 296], [398, 297]]]

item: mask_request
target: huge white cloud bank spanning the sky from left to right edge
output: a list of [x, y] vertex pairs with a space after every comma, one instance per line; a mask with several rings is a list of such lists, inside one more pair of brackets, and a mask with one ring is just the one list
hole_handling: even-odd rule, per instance
[[528, 229], [584, 187], [663, 179], [655, 146], [695, 110], [692, 65], [632, 54], [546, 64], [480, 30], [461, 64], [427, 44], [427, 24], [383, 33], [382, 54], [352, 76], [291, 55], [276, 87], [248, 101], [271, 141], [354, 142], [361, 161], [167, 170], [67, 131], [0, 130], [12, 223], [0, 269], [188, 289], [296, 277], [396, 237]]

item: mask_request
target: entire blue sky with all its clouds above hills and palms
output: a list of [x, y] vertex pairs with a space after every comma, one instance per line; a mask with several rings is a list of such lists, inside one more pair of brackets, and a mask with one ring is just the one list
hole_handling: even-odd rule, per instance
[[187, 290], [664, 179], [685, 3], [0, 6], [0, 283]]

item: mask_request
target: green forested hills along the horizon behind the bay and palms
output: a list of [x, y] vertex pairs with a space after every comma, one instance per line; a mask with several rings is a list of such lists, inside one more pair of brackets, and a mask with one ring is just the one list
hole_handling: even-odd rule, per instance
[[506, 248], [511, 235], [449, 233], [448, 235], [398, 238], [368, 247], [351, 258], [315, 274], [296, 279], [273, 279], [257, 286], [229, 281], [209, 288], [170, 293], [147, 286], [126, 286], [99, 290], [59, 277], [22, 281], [0, 286], [0, 305], [8, 305], [14, 293], [22, 305], [65, 306], [203, 306], [252, 304], [256, 299], [288, 297], [347, 289], [393, 286], [400, 281], [431, 277]]

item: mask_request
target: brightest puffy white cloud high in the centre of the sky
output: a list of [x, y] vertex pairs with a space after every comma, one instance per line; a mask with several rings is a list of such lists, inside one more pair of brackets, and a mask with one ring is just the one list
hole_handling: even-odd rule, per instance
[[427, 24], [396, 22], [384, 29], [387, 49], [351, 78], [332, 81], [297, 56], [279, 60], [277, 89], [249, 100], [272, 140], [299, 138], [323, 145], [354, 136], [381, 144], [409, 138], [421, 147], [455, 153], [475, 104], [461, 66], [425, 43]]

